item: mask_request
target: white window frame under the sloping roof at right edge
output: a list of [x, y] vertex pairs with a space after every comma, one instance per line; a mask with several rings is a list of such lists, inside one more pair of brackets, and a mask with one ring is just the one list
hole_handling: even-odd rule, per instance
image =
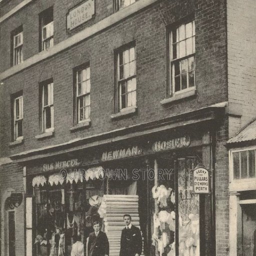
[[[254, 150], [255, 153], [255, 177], [234, 179], [233, 170], [233, 153]], [[247, 153], [248, 155], [248, 153]], [[247, 173], [248, 173], [248, 157], [247, 157]], [[245, 191], [256, 189], [256, 146], [247, 146], [240, 148], [232, 148], [229, 150], [229, 191]]]

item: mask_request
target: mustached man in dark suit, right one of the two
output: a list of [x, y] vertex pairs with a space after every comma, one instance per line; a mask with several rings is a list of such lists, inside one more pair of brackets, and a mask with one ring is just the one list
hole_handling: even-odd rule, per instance
[[121, 233], [120, 256], [140, 256], [142, 251], [142, 238], [139, 228], [133, 226], [131, 216], [123, 215], [125, 227]]

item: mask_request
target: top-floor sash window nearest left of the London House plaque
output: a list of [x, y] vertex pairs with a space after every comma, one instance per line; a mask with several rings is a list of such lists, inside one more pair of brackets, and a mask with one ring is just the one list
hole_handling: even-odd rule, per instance
[[[47, 50], [48, 48], [54, 45], [53, 35], [54, 35], [54, 26], [53, 26], [53, 16], [52, 21], [47, 24], [44, 24], [45, 15], [41, 18], [41, 50]], [[48, 34], [48, 36], [47, 36]]]

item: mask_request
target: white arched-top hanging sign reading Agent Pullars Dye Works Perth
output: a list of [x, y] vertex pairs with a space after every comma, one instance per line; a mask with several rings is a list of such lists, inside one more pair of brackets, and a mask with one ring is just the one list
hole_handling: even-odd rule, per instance
[[203, 166], [195, 167], [193, 170], [193, 192], [209, 193], [209, 171]]

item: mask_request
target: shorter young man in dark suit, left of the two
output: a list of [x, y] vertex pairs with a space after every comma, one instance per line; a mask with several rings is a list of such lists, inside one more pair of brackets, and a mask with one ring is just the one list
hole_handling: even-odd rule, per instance
[[93, 222], [94, 231], [89, 234], [88, 256], [108, 256], [109, 243], [106, 234], [100, 231], [99, 222]]

